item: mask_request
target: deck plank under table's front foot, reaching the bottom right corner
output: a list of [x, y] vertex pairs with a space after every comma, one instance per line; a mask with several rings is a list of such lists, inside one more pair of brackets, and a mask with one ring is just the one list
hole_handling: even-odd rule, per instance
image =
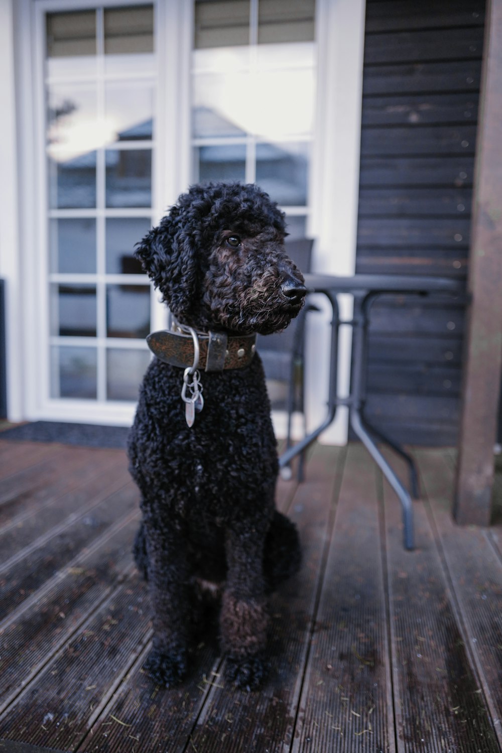
[[384, 498], [397, 751], [499, 753], [424, 502], [414, 502], [415, 550], [407, 551], [387, 482]]

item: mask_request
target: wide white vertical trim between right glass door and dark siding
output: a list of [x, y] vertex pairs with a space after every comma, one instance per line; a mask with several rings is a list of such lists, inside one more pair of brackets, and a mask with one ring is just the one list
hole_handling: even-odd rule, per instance
[[[312, 164], [314, 271], [351, 276], [355, 271], [361, 105], [363, 90], [366, 0], [317, 0], [318, 96]], [[329, 373], [330, 304], [320, 295], [321, 309], [309, 315], [307, 337], [307, 417], [313, 429], [324, 420]], [[351, 319], [351, 296], [339, 296], [342, 319]], [[351, 370], [351, 328], [339, 334], [338, 394], [346, 397]], [[348, 408], [321, 434], [327, 444], [345, 444]]]

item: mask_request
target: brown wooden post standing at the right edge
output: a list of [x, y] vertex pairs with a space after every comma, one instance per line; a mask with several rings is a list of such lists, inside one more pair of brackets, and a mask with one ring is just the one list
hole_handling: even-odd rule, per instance
[[502, 376], [502, 2], [488, 0], [479, 105], [464, 385], [454, 514], [490, 522]]

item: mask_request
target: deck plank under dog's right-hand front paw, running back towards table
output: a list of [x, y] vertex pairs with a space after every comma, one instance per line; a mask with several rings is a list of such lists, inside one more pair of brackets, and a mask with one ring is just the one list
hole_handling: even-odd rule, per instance
[[236, 751], [289, 750], [336, 501], [333, 471], [337, 461], [342, 468], [344, 456], [340, 448], [315, 447], [306, 483], [292, 501], [289, 515], [300, 532], [303, 568], [271, 599], [268, 681], [246, 696], [219, 678], [190, 736], [190, 749], [221, 751], [225, 740], [226, 747]]

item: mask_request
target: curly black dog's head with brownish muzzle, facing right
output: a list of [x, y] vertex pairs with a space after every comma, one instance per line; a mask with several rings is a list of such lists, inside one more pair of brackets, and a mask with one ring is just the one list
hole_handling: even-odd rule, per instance
[[269, 334], [300, 312], [300, 270], [284, 251], [284, 213], [253, 184], [194, 185], [135, 255], [180, 322]]

